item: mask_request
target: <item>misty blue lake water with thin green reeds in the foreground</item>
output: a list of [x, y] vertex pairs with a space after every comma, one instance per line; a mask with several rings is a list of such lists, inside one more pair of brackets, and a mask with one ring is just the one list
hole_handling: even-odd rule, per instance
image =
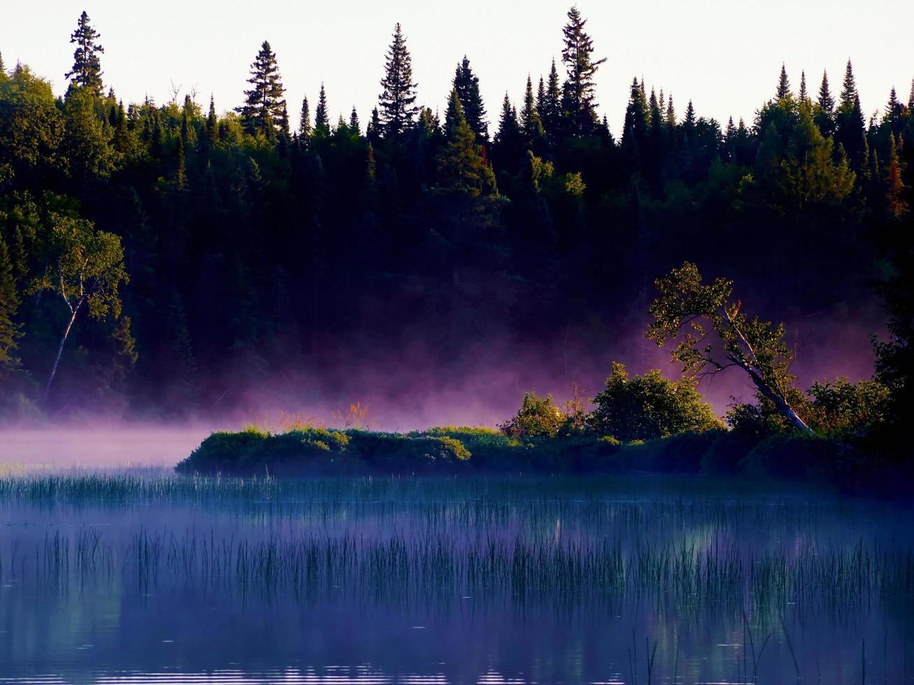
[[911, 513], [646, 476], [7, 476], [0, 682], [902, 682]]

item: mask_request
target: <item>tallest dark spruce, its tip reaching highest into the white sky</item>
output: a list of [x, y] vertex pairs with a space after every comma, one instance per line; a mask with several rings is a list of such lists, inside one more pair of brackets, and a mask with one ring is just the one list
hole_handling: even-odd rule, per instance
[[593, 132], [598, 120], [593, 79], [606, 58], [592, 59], [593, 40], [584, 31], [587, 20], [572, 6], [568, 24], [562, 29], [565, 47], [562, 62], [568, 78], [562, 89], [562, 108], [567, 113], [569, 131], [575, 135]]

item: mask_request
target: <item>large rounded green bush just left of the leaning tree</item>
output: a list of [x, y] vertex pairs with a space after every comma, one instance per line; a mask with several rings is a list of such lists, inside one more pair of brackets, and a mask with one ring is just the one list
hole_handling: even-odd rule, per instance
[[613, 363], [606, 386], [593, 403], [595, 408], [587, 421], [590, 431], [622, 442], [721, 427], [693, 380], [668, 381], [656, 369], [629, 376], [622, 364]]

